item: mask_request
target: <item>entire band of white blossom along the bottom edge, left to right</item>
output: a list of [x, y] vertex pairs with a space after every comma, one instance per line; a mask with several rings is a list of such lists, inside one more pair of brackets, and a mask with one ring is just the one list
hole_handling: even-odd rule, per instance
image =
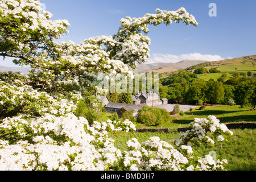
[[[141, 143], [133, 138], [127, 142], [130, 150], [122, 152], [107, 130], [126, 129], [127, 123], [131, 126], [128, 121], [110, 120], [90, 126], [85, 118], [71, 113], [46, 114], [30, 121], [23, 115], [5, 118], [0, 124], [0, 169], [222, 170], [227, 163], [214, 161], [210, 155], [196, 159], [191, 146], [183, 145], [179, 151], [159, 137]], [[4, 140], [7, 135], [9, 139]]]

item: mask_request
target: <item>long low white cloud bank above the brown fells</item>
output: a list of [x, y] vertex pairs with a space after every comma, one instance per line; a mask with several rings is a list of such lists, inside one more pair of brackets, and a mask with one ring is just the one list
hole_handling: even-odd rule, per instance
[[219, 61], [224, 60], [223, 57], [218, 55], [201, 55], [200, 53], [188, 53], [182, 55], [170, 55], [153, 53], [148, 59], [148, 63], [177, 63], [182, 60], [200, 60], [200, 61]]

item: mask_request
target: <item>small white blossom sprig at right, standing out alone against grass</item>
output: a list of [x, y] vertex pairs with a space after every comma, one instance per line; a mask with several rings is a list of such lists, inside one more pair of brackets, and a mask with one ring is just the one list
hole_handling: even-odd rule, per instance
[[[224, 136], [233, 135], [233, 132], [229, 130], [224, 123], [220, 123], [220, 120], [213, 115], [209, 115], [207, 119], [195, 118], [195, 120], [189, 124], [189, 127], [192, 129], [187, 130], [176, 139], [176, 146], [187, 144], [192, 139], [193, 142], [196, 143], [206, 142], [214, 144], [213, 139], [222, 141], [225, 139]], [[207, 135], [208, 131], [213, 133], [213, 139]]]

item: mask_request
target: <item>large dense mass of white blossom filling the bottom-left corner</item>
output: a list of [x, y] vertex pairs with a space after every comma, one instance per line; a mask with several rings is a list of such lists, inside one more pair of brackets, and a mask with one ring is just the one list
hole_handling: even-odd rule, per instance
[[[122, 156], [104, 130], [110, 123], [95, 122], [89, 126], [85, 118], [71, 113], [61, 117], [46, 114], [31, 121], [22, 115], [5, 118], [0, 131], [19, 136], [20, 142], [9, 144], [0, 140], [0, 169], [104, 170]], [[31, 138], [32, 143], [25, 138]]]

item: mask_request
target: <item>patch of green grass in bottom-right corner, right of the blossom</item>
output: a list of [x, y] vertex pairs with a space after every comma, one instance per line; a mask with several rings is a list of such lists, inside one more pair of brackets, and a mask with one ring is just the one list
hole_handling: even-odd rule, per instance
[[195, 147], [199, 156], [215, 151], [217, 156], [227, 159], [226, 166], [232, 171], [255, 171], [256, 170], [256, 129], [233, 129], [234, 135], [228, 137], [228, 141], [216, 142], [213, 146]]

